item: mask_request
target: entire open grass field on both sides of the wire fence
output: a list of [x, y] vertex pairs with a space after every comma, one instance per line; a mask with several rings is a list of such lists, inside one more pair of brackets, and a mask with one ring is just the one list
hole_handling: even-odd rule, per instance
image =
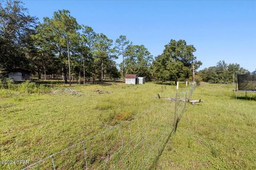
[[[54, 155], [55, 168], [155, 167], [174, 118], [174, 103], [155, 97], [157, 93], [174, 97], [174, 86], [117, 83], [72, 88], [79, 91], [77, 95], [12, 92], [0, 98], [1, 160], [29, 160], [32, 164], [111, 129], [84, 142], [86, 159], [80, 144]], [[207, 83], [196, 87], [193, 99], [201, 98], [204, 103], [187, 104], [157, 169], [256, 169], [255, 94], [235, 100], [231, 88], [230, 84]], [[184, 84], [179, 90], [179, 97], [184, 98]], [[184, 105], [178, 104], [178, 115]], [[0, 164], [0, 169], [25, 166]], [[33, 168], [51, 169], [52, 160]]]

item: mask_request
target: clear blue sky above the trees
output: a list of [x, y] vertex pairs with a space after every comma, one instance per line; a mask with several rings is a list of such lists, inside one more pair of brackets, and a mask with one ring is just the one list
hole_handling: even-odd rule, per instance
[[[256, 1], [23, 1], [31, 15], [67, 9], [80, 24], [115, 40], [126, 35], [157, 56], [171, 39], [197, 51], [200, 69], [220, 60], [256, 69]], [[117, 60], [119, 63], [120, 60]]]

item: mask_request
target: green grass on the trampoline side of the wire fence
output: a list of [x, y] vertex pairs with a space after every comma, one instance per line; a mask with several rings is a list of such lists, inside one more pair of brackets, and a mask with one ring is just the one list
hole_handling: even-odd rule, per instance
[[231, 84], [197, 86], [177, 133], [167, 143], [157, 169], [256, 169], [256, 94]]

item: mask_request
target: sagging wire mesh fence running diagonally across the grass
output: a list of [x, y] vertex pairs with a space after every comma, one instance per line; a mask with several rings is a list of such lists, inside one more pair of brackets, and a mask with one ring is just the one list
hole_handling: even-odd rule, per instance
[[[157, 100], [163, 105], [150, 107], [117, 125], [60, 150], [26, 169], [152, 169], [177, 129], [191, 99], [195, 83], [178, 82], [175, 96]], [[159, 95], [158, 95], [159, 96]], [[182, 100], [183, 99], [183, 100]], [[184, 101], [185, 99], [185, 101]], [[161, 101], [159, 101], [161, 100]]]

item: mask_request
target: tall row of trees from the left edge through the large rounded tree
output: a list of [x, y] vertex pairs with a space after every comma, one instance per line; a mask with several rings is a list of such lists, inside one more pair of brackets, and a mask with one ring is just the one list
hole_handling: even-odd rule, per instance
[[[79, 24], [68, 10], [38, 22], [20, 1], [0, 2], [0, 74], [15, 69], [30, 71], [38, 79], [62, 77], [90, 80], [124, 78], [138, 74], [147, 80], [182, 81], [198, 69], [193, 45], [171, 39], [163, 53], [150, 54], [144, 45], [134, 45], [126, 36], [115, 41]], [[117, 64], [115, 60], [121, 58]]]

